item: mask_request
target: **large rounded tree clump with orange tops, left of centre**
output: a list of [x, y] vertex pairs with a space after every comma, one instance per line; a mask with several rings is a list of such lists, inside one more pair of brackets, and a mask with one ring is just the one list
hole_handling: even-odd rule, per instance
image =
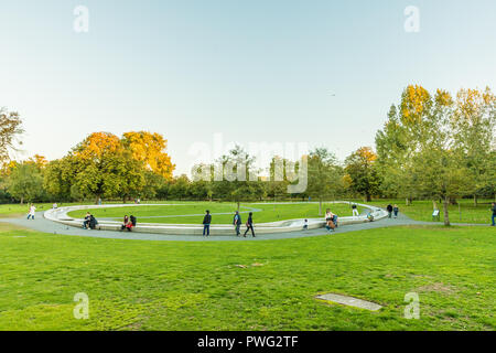
[[52, 161], [44, 175], [47, 191], [62, 199], [120, 197], [123, 202], [172, 176], [174, 165], [159, 133], [94, 132], [66, 157]]

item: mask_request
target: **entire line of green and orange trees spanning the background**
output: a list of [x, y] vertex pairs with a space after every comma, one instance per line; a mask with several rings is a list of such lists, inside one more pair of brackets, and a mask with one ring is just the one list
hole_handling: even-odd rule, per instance
[[[452, 97], [441, 89], [430, 94], [421, 86], [408, 86], [376, 135], [376, 152], [362, 147], [341, 162], [326, 148], [316, 148], [295, 162], [276, 156], [262, 173], [255, 168], [255, 157], [236, 147], [215, 167], [195, 165], [193, 180], [173, 178], [166, 140], [144, 131], [121, 138], [95, 132], [60, 160], [48, 162], [35, 156], [8, 162], [7, 150], [22, 128], [17, 114], [0, 111], [4, 126], [0, 130], [0, 162], [4, 162], [0, 199], [19, 202], [141, 197], [239, 203], [312, 197], [320, 201], [322, 213], [325, 199], [405, 197], [407, 203], [429, 199], [434, 207], [442, 203], [449, 224], [449, 203], [471, 196], [476, 204], [478, 197], [496, 194], [496, 99], [489, 88], [461, 89]], [[290, 174], [298, 174], [303, 161], [306, 189], [289, 194], [288, 185], [298, 183]], [[229, 178], [233, 174], [237, 178]]]

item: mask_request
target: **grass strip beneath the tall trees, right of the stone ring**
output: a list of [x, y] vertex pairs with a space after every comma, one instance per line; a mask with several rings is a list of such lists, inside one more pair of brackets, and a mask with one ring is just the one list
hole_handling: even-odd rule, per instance
[[[359, 202], [359, 201], [357, 201]], [[364, 201], [360, 201], [364, 202]], [[459, 205], [450, 205], [448, 207], [450, 222], [452, 223], [472, 223], [472, 224], [490, 224], [490, 215], [493, 214], [490, 203], [493, 200], [478, 200], [477, 206], [474, 206], [473, 200], [459, 199]], [[366, 202], [367, 204], [386, 208], [388, 204], [398, 204], [400, 212], [405, 213], [416, 221], [432, 221], [433, 204], [432, 201], [417, 201], [407, 206], [405, 200], [374, 200]], [[443, 222], [442, 204], [438, 203], [438, 207], [441, 210], [440, 222]]]

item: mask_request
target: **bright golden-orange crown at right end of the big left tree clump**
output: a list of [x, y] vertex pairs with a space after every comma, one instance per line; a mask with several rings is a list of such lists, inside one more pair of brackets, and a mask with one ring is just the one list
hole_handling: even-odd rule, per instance
[[144, 162], [147, 169], [160, 174], [166, 180], [172, 179], [175, 164], [165, 152], [168, 140], [160, 133], [148, 131], [131, 131], [123, 133], [122, 143], [132, 152], [132, 158]]

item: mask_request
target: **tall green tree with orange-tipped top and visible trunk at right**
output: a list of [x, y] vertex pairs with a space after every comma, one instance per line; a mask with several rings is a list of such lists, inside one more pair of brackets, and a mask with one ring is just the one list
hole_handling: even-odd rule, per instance
[[[467, 151], [474, 146], [482, 146], [470, 142], [472, 147], [466, 148], [468, 142], [462, 141], [481, 138], [481, 131], [475, 131], [478, 129], [473, 128], [467, 116], [461, 114], [466, 109], [463, 97], [466, 97], [464, 93], [456, 107], [445, 90], [438, 89], [435, 95], [431, 95], [422, 86], [408, 86], [397, 113], [389, 115], [384, 131], [376, 136], [379, 168], [397, 178], [403, 176], [397, 180], [398, 184], [402, 184], [400, 190], [430, 197], [433, 202], [440, 200], [445, 225], [450, 225], [449, 203], [473, 191]], [[477, 114], [468, 116], [474, 119]], [[487, 137], [493, 137], [492, 133], [486, 132], [485, 140], [490, 140]], [[487, 148], [487, 143], [484, 146]], [[488, 170], [488, 158], [490, 153], [481, 158], [478, 163], [484, 170]], [[395, 174], [395, 170], [399, 172]]]

